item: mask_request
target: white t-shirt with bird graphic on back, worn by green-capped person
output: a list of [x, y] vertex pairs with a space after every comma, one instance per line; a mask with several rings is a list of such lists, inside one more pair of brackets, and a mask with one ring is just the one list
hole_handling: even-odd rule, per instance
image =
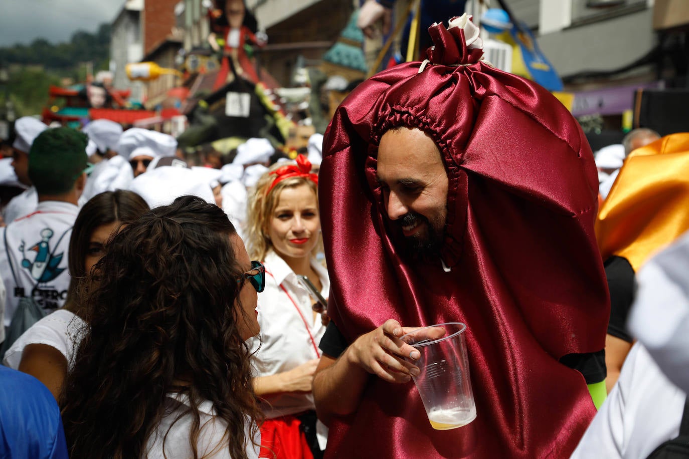
[[0, 228], [0, 274], [7, 289], [5, 325], [10, 325], [22, 292], [47, 311], [65, 305], [70, 286], [67, 257], [78, 213], [74, 204], [44, 201], [32, 213]]

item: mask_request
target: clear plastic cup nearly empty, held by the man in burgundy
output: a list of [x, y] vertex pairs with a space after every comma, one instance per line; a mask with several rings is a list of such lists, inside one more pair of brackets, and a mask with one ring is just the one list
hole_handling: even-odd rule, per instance
[[433, 429], [456, 429], [476, 418], [465, 330], [464, 323], [439, 323], [400, 338], [421, 354], [407, 360], [420, 370], [413, 380]]

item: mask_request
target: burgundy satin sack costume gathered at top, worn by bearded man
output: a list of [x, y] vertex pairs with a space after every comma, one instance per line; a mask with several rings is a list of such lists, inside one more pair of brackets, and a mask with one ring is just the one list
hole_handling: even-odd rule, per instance
[[[328, 312], [350, 343], [386, 319], [466, 323], [477, 418], [434, 430], [413, 383], [371, 376], [356, 414], [333, 421], [326, 458], [565, 458], [595, 408], [558, 359], [604, 348], [609, 315], [593, 155], [545, 89], [477, 61], [460, 28], [429, 32], [422, 72], [406, 63], [362, 83], [325, 135]], [[376, 156], [396, 126], [422, 129], [442, 154], [449, 273], [404, 257], [382, 206]]]

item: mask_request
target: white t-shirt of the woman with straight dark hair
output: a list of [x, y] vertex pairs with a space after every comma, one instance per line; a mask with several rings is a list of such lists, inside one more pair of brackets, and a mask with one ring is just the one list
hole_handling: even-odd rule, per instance
[[70, 369], [74, 363], [74, 354], [81, 341], [81, 331], [86, 323], [81, 318], [65, 309], [59, 309], [43, 317], [26, 330], [3, 358], [3, 365], [14, 370], [19, 369], [24, 348], [30, 344], [49, 345], [65, 356]]

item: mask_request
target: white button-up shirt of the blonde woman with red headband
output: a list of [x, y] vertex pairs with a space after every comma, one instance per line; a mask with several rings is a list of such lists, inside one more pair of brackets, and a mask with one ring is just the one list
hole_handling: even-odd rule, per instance
[[[316, 259], [311, 259], [311, 267], [320, 279], [321, 294], [327, 298], [330, 290], [327, 270]], [[318, 359], [318, 343], [325, 333], [320, 314], [313, 317], [311, 305], [315, 301], [285, 260], [269, 252], [265, 257], [265, 271], [265, 290], [258, 294], [257, 308], [260, 348], [257, 339], [249, 341], [252, 350], [258, 348], [253, 356], [254, 376], [286, 372]], [[314, 409], [311, 393], [267, 394], [263, 398], [267, 403], [263, 403], [262, 409], [268, 419]]]

